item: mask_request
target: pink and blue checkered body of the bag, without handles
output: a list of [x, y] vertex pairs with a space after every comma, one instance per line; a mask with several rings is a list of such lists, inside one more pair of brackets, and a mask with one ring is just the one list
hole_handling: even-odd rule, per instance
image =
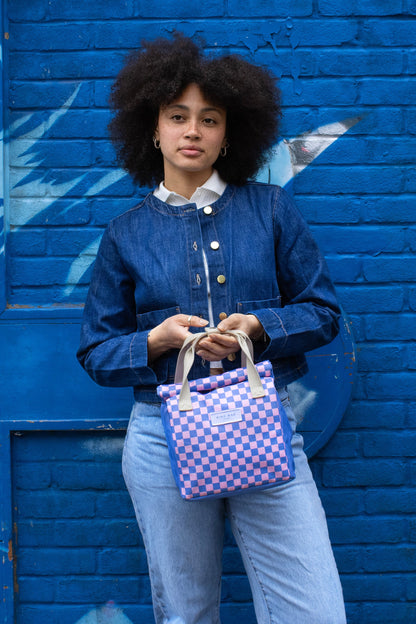
[[[243, 368], [190, 381], [191, 411], [179, 411], [181, 384], [158, 387], [172, 471], [183, 498], [228, 496], [295, 477], [292, 430], [272, 366], [266, 361], [256, 368], [266, 390], [266, 396], [257, 399], [251, 396]], [[231, 411], [241, 420], [211, 422], [213, 413]]]

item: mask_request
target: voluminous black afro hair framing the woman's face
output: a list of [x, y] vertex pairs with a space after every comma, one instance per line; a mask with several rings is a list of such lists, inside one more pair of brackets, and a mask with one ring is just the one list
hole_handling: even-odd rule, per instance
[[227, 111], [226, 157], [214, 167], [223, 180], [242, 185], [255, 176], [276, 142], [280, 91], [267, 70], [231, 54], [204, 56], [188, 37], [143, 42], [113, 85], [109, 124], [120, 164], [141, 186], [163, 180], [163, 156], [153, 145], [159, 110], [190, 84]]

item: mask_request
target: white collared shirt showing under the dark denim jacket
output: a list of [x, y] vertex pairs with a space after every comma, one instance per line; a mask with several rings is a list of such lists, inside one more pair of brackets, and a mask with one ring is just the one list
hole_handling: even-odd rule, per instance
[[[159, 186], [153, 191], [153, 195], [160, 199], [161, 201], [170, 204], [171, 206], [184, 206], [186, 204], [196, 204], [198, 209], [204, 208], [205, 206], [209, 206], [209, 204], [213, 204], [217, 199], [221, 197], [227, 188], [227, 184], [224, 180], [221, 180], [218, 171], [213, 170], [211, 176], [208, 178], [206, 182], [202, 186], [198, 186], [198, 188], [194, 191], [192, 197], [187, 199], [174, 191], [169, 191], [166, 186], [161, 182]], [[202, 257], [204, 261], [204, 269], [205, 269], [205, 278], [207, 281], [207, 296], [208, 296], [208, 320], [209, 326], [215, 327], [214, 325], [214, 314], [212, 311], [212, 301], [211, 301], [211, 289], [209, 285], [209, 268], [207, 257], [205, 251], [202, 250]], [[211, 362], [211, 368], [221, 368], [221, 362]]]

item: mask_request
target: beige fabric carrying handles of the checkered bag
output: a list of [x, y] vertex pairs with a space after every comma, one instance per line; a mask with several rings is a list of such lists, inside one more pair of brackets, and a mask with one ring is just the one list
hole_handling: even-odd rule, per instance
[[178, 355], [175, 383], [182, 384], [179, 394], [179, 410], [181, 412], [192, 409], [188, 374], [191, 370], [192, 364], [194, 363], [196, 346], [202, 338], [205, 338], [207, 334], [209, 335], [212, 333], [228, 334], [237, 338], [241, 349], [241, 364], [243, 367], [247, 368], [247, 377], [252, 397], [257, 399], [266, 394], [260, 380], [260, 375], [253, 362], [253, 345], [247, 334], [239, 329], [230, 329], [226, 332], [220, 332], [215, 328], [207, 327], [204, 332], [187, 336]]

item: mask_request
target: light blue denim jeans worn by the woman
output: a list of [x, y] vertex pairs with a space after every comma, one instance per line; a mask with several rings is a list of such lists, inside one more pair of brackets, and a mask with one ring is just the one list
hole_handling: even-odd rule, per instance
[[[295, 429], [286, 391], [280, 398]], [[229, 498], [185, 501], [171, 472], [160, 405], [135, 403], [123, 474], [146, 548], [157, 624], [219, 624], [224, 520], [258, 624], [345, 624], [325, 514], [294, 434], [296, 479]]]

